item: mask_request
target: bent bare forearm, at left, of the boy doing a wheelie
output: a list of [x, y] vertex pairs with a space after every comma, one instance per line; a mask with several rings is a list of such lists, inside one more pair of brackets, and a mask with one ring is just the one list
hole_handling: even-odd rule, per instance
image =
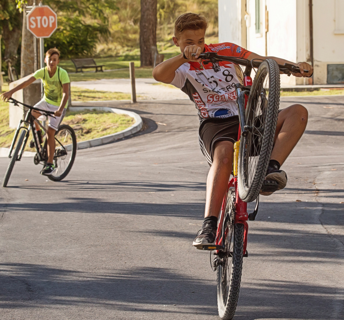
[[163, 83], [171, 83], [175, 76], [175, 70], [183, 65], [188, 60], [185, 60], [183, 54], [179, 54], [173, 58], [165, 60], [158, 64], [153, 70], [153, 77], [155, 80]]

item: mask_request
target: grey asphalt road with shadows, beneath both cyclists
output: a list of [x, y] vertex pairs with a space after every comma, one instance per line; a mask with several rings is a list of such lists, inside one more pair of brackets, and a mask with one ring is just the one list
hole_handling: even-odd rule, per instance
[[[249, 222], [234, 319], [344, 319], [343, 97], [281, 107], [295, 102], [308, 126], [282, 167], [287, 187], [261, 197]], [[209, 169], [196, 110], [115, 106], [136, 110], [146, 131], [78, 151], [60, 183], [23, 158], [0, 190], [2, 320], [218, 319], [209, 253], [191, 245]]]

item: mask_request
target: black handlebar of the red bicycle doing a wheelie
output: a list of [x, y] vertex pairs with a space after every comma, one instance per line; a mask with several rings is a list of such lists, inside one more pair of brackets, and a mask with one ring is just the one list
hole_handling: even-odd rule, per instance
[[[196, 54], [193, 53], [193, 56], [195, 56]], [[252, 60], [248, 60], [245, 58], [240, 58], [240, 57], [228, 57], [228, 56], [219, 56], [216, 52], [204, 52], [204, 53], [200, 53], [200, 55], [198, 56], [198, 58], [201, 58], [203, 60], [208, 60], [208, 62], [206, 61], [206, 63], [214, 63], [214, 62], [220, 62], [220, 61], [228, 61], [228, 62], [233, 62], [236, 64], [240, 64], [246, 67], [259, 67], [259, 65], [261, 64], [261, 62], [255, 61], [255, 59]], [[294, 66], [292, 64], [289, 63], [285, 63], [284, 65], [278, 65], [279, 69], [281, 72], [283, 72], [284, 74], [292, 74], [292, 73], [301, 73], [301, 70], [299, 67]], [[304, 73], [308, 73], [309, 70], [303, 70]]]

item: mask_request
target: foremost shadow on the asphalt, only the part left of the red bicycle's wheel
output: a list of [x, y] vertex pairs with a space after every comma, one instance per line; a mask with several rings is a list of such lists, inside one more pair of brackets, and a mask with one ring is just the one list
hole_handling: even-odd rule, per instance
[[[190, 278], [168, 268], [130, 267], [108, 274], [50, 268], [38, 264], [0, 264], [2, 308], [48, 305], [103, 305], [117, 310], [216, 313], [216, 283]], [[213, 294], [203, 295], [202, 290]], [[186, 310], [185, 310], [186, 309]]]

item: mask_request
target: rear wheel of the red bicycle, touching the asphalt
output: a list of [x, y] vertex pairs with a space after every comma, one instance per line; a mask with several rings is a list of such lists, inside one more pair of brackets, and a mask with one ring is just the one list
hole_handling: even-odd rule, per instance
[[222, 320], [234, 317], [239, 298], [241, 270], [243, 268], [244, 230], [241, 223], [234, 224], [235, 189], [228, 192], [226, 215], [222, 230], [225, 230], [225, 249], [219, 250], [217, 266], [217, 307]]

